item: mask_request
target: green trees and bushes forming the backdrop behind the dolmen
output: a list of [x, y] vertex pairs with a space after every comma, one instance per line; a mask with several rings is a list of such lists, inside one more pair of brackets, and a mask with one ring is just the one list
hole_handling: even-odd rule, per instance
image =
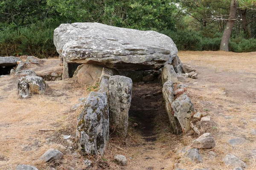
[[[256, 51], [255, 2], [238, 5], [230, 51]], [[57, 56], [53, 31], [74, 22], [159, 31], [179, 50], [217, 51], [229, 8], [230, 0], [1, 0], [0, 56]]]

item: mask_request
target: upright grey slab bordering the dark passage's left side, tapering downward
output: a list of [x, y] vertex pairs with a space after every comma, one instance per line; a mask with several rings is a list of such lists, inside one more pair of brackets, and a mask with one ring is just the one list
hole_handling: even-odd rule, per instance
[[116, 125], [119, 135], [125, 137], [128, 129], [128, 112], [131, 106], [132, 81], [124, 76], [109, 78], [110, 122]]

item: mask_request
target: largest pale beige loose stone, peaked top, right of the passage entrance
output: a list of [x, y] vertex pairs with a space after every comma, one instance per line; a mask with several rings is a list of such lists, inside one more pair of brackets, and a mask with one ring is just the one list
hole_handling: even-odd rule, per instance
[[198, 139], [195, 139], [190, 147], [198, 148], [198, 149], [211, 149], [216, 146], [215, 140], [213, 139], [210, 133], [204, 133], [199, 136]]

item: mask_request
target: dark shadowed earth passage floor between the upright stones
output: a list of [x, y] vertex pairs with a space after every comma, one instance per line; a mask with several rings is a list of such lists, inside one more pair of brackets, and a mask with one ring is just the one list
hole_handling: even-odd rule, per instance
[[164, 111], [162, 84], [134, 83], [129, 118], [132, 122], [138, 124], [135, 130], [144, 136], [145, 141], [156, 141], [157, 122], [155, 122], [155, 118], [160, 112]]

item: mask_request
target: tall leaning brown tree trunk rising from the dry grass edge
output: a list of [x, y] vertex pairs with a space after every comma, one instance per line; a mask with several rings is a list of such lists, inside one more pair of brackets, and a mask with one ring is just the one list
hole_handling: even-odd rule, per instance
[[237, 0], [231, 0], [230, 4], [230, 14], [227, 21], [227, 26], [224, 29], [223, 36], [221, 39], [220, 51], [228, 51], [228, 42], [231, 37], [231, 32], [235, 23], [236, 18], [236, 9], [237, 9]]

